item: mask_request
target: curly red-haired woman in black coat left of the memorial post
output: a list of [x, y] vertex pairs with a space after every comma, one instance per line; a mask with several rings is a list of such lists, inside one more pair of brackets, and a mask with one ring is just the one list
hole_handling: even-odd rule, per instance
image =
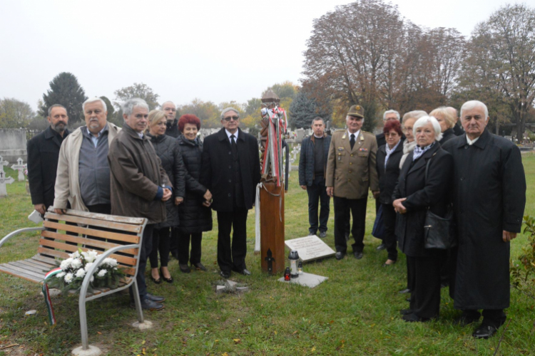
[[[178, 264], [180, 271], [189, 273], [188, 260], [197, 270], [206, 271], [200, 263], [200, 243], [203, 231], [212, 229], [212, 211], [203, 206], [205, 201], [212, 199], [212, 194], [203, 184], [199, 183], [200, 164], [203, 154], [203, 143], [197, 137], [200, 120], [195, 115], [182, 115], [178, 120], [178, 145], [185, 165], [186, 194], [184, 203], [178, 206], [180, 226], [178, 226]], [[191, 251], [190, 251], [191, 241]]]

